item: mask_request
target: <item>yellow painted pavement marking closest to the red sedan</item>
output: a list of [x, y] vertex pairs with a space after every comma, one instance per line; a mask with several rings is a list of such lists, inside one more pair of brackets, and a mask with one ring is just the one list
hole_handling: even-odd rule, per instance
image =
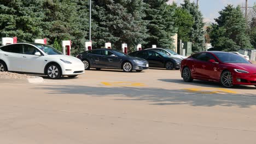
[[237, 92], [230, 91], [229, 89], [225, 88], [185, 88], [187, 92], [196, 92], [196, 93], [203, 93], [203, 94], [216, 94], [216, 93], [232, 93], [237, 94]]

